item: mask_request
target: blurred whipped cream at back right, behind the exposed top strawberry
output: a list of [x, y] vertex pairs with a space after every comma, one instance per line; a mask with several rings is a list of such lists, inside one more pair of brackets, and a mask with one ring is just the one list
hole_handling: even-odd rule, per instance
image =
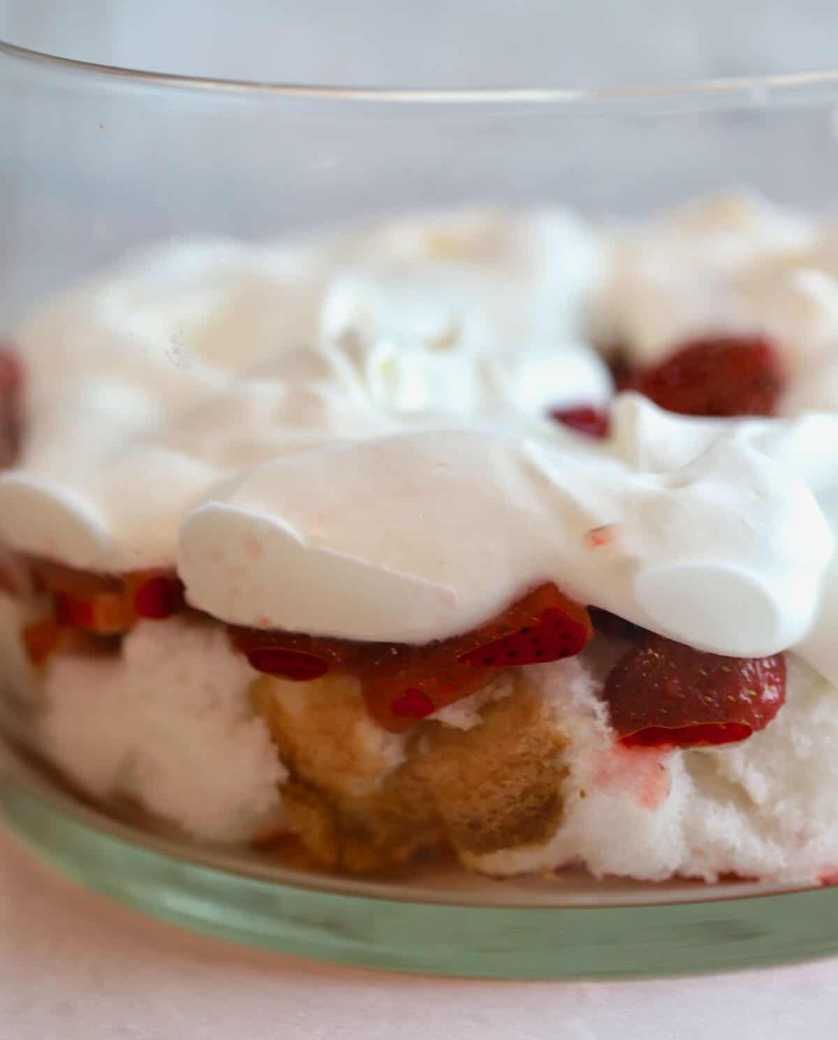
[[838, 411], [838, 227], [758, 196], [699, 199], [606, 234], [599, 338], [638, 365], [718, 333], [771, 338], [784, 415]]

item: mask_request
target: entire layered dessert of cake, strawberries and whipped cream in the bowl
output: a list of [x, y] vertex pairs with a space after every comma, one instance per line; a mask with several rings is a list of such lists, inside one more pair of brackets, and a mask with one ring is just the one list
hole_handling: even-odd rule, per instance
[[104, 805], [390, 869], [838, 868], [838, 231], [168, 242], [0, 366], [5, 714]]

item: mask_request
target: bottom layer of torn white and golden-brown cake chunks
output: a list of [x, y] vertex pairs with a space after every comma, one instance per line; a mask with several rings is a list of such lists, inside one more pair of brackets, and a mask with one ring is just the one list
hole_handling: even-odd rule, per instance
[[260, 676], [211, 624], [140, 622], [120, 656], [50, 662], [35, 734], [103, 801], [203, 840], [290, 828], [349, 869], [445, 842], [499, 876], [834, 873], [835, 687], [789, 654], [786, 703], [762, 732], [715, 749], [625, 748], [602, 699], [624, 650], [598, 638], [577, 657], [504, 672], [399, 735], [369, 719], [351, 677]]

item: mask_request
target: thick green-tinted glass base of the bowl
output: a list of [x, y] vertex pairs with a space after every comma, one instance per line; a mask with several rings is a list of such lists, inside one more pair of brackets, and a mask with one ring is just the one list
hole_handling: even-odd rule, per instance
[[[12, 755], [0, 807], [95, 891], [187, 928], [340, 964], [510, 979], [664, 976], [838, 953], [838, 888], [347, 881], [139, 833]], [[763, 894], [759, 894], [762, 892]]]

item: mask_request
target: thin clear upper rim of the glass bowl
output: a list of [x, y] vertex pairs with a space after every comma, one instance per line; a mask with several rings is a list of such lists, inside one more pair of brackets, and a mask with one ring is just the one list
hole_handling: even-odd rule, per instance
[[[298, 98], [320, 101], [387, 102], [401, 105], [545, 105], [567, 109], [619, 107], [625, 103], [658, 102], [684, 104], [711, 102], [718, 107], [764, 105], [769, 100], [806, 101], [812, 92], [827, 90], [838, 98], [838, 69], [777, 73], [765, 76], [727, 76], [682, 82], [631, 83], [597, 88], [578, 87], [422, 87], [349, 86], [317, 83], [284, 83], [248, 79], [225, 79], [168, 72], [150, 72], [122, 66], [101, 64], [21, 47], [0, 38], [0, 56], [54, 73], [86, 75], [99, 80], [123, 81], [136, 86], [244, 95], [248, 97]], [[114, 82], [115, 85], [115, 82]]]

